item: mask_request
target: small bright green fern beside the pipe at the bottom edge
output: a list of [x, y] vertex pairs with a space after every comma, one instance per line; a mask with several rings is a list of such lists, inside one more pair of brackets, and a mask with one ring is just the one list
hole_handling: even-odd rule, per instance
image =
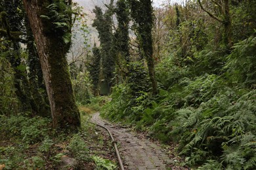
[[104, 158], [101, 158], [99, 156], [93, 156], [93, 160], [96, 163], [96, 169], [98, 170], [103, 170], [103, 169], [107, 169], [107, 170], [114, 170], [117, 169], [117, 165], [115, 165], [114, 163], [112, 163], [112, 161], [110, 160], [106, 160]]

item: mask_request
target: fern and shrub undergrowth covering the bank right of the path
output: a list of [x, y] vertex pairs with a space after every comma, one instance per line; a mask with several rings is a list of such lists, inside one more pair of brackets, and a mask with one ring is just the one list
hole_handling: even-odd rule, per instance
[[203, 63], [190, 69], [177, 67], [174, 56], [167, 58], [156, 69], [158, 96], [152, 96], [147, 86], [141, 88], [146, 77], [134, 80], [140, 91], [127, 81], [113, 88], [102, 116], [132, 124], [164, 143], [179, 143], [185, 165], [255, 169], [255, 44], [255, 37], [235, 44], [219, 71], [205, 70], [203, 75], [194, 73]]

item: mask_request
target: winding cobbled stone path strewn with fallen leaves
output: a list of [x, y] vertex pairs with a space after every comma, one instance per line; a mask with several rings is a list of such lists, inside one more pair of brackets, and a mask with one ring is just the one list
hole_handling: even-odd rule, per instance
[[169, 158], [165, 153], [166, 151], [152, 141], [138, 135], [130, 129], [102, 120], [99, 112], [93, 114], [91, 121], [100, 126], [105, 126], [110, 130], [114, 139], [119, 144], [118, 148], [125, 169], [186, 169], [184, 167], [171, 165], [171, 163], [175, 162], [173, 161], [175, 158]]

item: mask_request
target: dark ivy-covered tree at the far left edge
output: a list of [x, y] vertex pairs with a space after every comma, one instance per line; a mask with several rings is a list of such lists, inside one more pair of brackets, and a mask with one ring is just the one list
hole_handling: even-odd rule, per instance
[[9, 43], [3, 52], [6, 53], [6, 58], [14, 70], [14, 88], [16, 96], [20, 103], [22, 103], [22, 112], [30, 112], [33, 115], [39, 114], [37, 103], [33, 99], [30, 92], [30, 84], [27, 78], [26, 65], [22, 62], [22, 49], [20, 41], [25, 42], [20, 38], [23, 35], [24, 15], [21, 10], [21, 1], [12, 0], [3, 1], [1, 5], [4, 11], [1, 12], [1, 36], [4, 37]]

